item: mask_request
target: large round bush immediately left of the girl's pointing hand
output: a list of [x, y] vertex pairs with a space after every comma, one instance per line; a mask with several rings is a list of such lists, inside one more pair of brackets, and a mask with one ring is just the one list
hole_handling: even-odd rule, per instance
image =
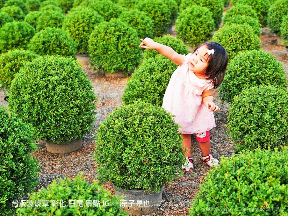
[[142, 50], [135, 29], [119, 19], [95, 26], [88, 41], [91, 64], [106, 73], [129, 71], [141, 62]]

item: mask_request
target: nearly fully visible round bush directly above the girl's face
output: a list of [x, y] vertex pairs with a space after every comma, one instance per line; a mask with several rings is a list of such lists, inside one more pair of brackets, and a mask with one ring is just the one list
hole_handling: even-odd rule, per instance
[[[201, 26], [201, 28], [199, 28]], [[182, 10], [176, 19], [176, 33], [189, 46], [208, 41], [214, 31], [212, 13], [207, 7], [192, 5]]]

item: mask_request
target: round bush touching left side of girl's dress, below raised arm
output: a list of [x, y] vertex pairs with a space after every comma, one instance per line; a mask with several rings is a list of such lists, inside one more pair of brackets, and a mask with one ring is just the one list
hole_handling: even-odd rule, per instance
[[147, 59], [128, 78], [122, 101], [124, 104], [144, 101], [162, 106], [170, 77], [177, 67], [177, 64], [163, 55]]

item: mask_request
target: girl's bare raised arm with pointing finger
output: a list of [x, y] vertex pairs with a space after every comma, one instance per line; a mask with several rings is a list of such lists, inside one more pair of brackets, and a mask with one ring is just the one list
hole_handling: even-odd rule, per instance
[[141, 40], [141, 44], [140, 44], [141, 48], [155, 49], [157, 52], [159, 52], [161, 55], [164, 55], [165, 57], [169, 58], [175, 64], [178, 64], [178, 65], [182, 64], [182, 62], [184, 60], [184, 56], [175, 52], [175, 50], [172, 49], [171, 47], [165, 46], [164, 44], [159, 44], [159, 43], [153, 41], [151, 38], [145, 38], [145, 40], [143, 40], [143, 39], [140, 39], [140, 40]]

